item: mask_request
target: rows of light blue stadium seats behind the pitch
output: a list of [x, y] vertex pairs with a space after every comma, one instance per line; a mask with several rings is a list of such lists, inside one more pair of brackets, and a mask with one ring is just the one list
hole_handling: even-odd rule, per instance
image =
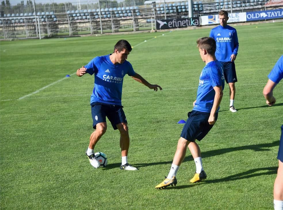
[[[272, 0], [270, 0], [272, 1]], [[277, 1], [276, 1], [277, 2]], [[215, 0], [214, 2], [204, 3], [202, 1], [194, 1], [193, 2], [193, 12], [194, 14], [213, 14], [218, 12], [220, 9], [230, 10], [231, 6], [233, 11], [240, 11], [243, 9], [255, 9], [260, 8], [265, 4], [265, 0], [233, 0], [232, 5], [230, 1], [220, 1]], [[271, 3], [270, 3], [271, 4]], [[268, 5], [268, 4], [267, 4]], [[272, 4], [271, 4], [272, 5]], [[188, 14], [189, 6], [188, 1], [176, 2], [176, 3], [160, 3], [156, 4], [155, 11], [157, 16], [163, 16], [166, 14], [170, 15], [186, 15]], [[68, 15], [71, 21], [79, 20], [79, 21], [88, 21], [90, 18], [98, 19], [110, 19], [111, 14], [114, 18], [127, 18], [133, 16], [143, 16], [143, 9], [138, 6], [131, 7], [113, 7], [113, 8], [101, 8], [99, 9], [83, 9], [83, 10], [68, 10], [65, 14]], [[39, 16], [39, 20], [41, 22], [54, 22], [58, 21], [58, 17], [53, 11], [51, 12], [37, 12], [37, 16]], [[17, 14], [3, 14], [3, 18], [15, 18], [12, 19], [13, 23], [23, 23], [23, 17], [35, 16], [35, 13], [25, 12], [25, 13], [17, 13]], [[61, 17], [63, 14], [60, 15]], [[1, 16], [0, 16], [1, 17]], [[0, 22], [1, 23], [1, 22]]]

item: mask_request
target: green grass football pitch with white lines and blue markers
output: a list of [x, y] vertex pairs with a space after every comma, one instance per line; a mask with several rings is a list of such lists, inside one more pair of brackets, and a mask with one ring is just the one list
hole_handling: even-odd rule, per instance
[[[273, 209], [283, 85], [274, 90], [272, 107], [262, 90], [283, 53], [282, 26], [234, 26], [238, 112], [229, 111], [226, 85], [218, 121], [199, 142], [207, 180], [189, 182], [195, 164], [188, 151], [177, 186], [166, 190], [154, 187], [169, 172], [183, 127], [177, 122], [192, 110], [205, 66], [196, 40], [210, 28], [1, 42], [0, 209]], [[139, 171], [119, 169], [119, 132], [109, 122], [95, 147], [107, 154], [108, 166], [94, 169], [85, 156], [93, 77], [74, 72], [112, 53], [119, 39], [133, 46], [134, 70], [163, 88], [154, 92], [124, 78], [129, 163]]]

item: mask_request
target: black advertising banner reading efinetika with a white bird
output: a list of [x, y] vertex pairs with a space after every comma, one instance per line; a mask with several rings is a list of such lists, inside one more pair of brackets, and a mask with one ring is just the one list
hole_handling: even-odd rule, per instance
[[183, 28], [188, 26], [199, 26], [198, 18], [178, 18], [167, 20], [156, 20], [156, 29]]

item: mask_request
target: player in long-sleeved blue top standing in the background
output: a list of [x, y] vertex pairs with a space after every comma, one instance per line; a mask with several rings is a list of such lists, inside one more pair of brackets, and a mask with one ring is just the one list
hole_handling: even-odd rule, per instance
[[211, 29], [210, 37], [216, 40], [216, 52], [215, 56], [224, 67], [224, 77], [226, 83], [229, 84], [230, 88], [230, 111], [237, 112], [234, 101], [236, 94], [235, 82], [237, 82], [237, 75], [235, 69], [235, 63], [239, 42], [237, 31], [235, 28], [227, 25], [228, 12], [221, 10], [219, 13], [220, 25]]

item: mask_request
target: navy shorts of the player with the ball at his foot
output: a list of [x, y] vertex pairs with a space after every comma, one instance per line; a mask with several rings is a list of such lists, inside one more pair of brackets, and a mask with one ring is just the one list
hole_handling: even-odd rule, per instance
[[127, 123], [123, 106], [104, 104], [99, 102], [91, 103], [91, 116], [93, 120], [93, 128], [96, 129], [97, 123], [106, 123], [106, 117], [111, 122], [114, 130], [118, 129], [117, 124]]

